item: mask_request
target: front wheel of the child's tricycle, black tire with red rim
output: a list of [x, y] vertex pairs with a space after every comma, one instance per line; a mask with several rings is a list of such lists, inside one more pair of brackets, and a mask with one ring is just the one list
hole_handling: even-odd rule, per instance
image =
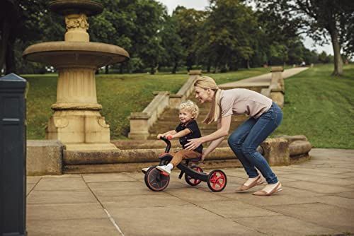
[[157, 170], [156, 167], [151, 167], [145, 173], [144, 180], [147, 187], [152, 191], [162, 191], [169, 186], [170, 177], [161, 174], [161, 171]]

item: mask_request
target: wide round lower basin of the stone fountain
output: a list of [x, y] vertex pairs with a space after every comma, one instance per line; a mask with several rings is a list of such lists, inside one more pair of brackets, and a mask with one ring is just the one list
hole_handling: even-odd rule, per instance
[[122, 47], [101, 42], [41, 42], [23, 52], [28, 61], [40, 62], [57, 68], [62, 66], [96, 67], [121, 63], [129, 59]]

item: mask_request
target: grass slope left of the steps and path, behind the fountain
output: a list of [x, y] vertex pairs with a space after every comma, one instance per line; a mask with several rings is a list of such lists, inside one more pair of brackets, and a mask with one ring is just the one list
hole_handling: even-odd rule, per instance
[[[206, 74], [217, 83], [238, 81], [242, 78], [267, 73], [269, 69], [256, 68], [229, 73]], [[57, 74], [22, 75], [30, 84], [27, 97], [28, 139], [44, 139], [45, 126], [52, 115], [50, 106], [57, 96]], [[110, 124], [111, 139], [126, 138], [129, 131], [130, 112], [142, 112], [154, 98], [153, 91], [176, 93], [188, 79], [186, 73], [172, 75], [158, 73], [108, 74], [96, 76], [98, 103], [103, 106], [101, 114]]]

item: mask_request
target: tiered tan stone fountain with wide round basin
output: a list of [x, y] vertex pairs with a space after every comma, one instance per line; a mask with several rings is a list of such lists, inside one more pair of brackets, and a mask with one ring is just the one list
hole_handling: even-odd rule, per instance
[[57, 102], [46, 130], [47, 139], [59, 139], [67, 150], [115, 150], [110, 143], [109, 125], [101, 116], [97, 102], [95, 72], [101, 66], [121, 63], [129, 54], [115, 45], [89, 42], [87, 16], [103, 11], [88, 0], [57, 0], [51, 11], [64, 16], [64, 41], [42, 42], [23, 52], [28, 61], [52, 65], [58, 71]]

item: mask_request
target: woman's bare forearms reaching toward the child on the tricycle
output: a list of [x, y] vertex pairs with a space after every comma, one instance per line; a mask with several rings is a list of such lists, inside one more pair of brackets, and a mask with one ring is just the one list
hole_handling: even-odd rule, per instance
[[[202, 143], [209, 142], [209, 141], [215, 141], [215, 142], [210, 143], [210, 146], [214, 146], [214, 148], [212, 148], [212, 150], [214, 150], [221, 143], [222, 138], [224, 138], [224, 136], [227, 136], [227, 134], [229, 134], [231, 118], [232, 118], [232, 116], [229, 115], [227, 117], [222, 117], [221, 119], [219, 119], [219, 122], [217, 124], [217, 131], [215, 131], [214, 133], [209, 134], [207, 136], [200, 137], [200, 138], [189, 139], [188, 140], [189, 143], [187, 143], [185, 145], [185, 149], [193, 150], [195, 148], [198, 148], [198, 146], [200, 146], [200, 144], [202, 144]], [[207, 148], [207, 151], [209, 149], [211, 149], [211, 148]]]

